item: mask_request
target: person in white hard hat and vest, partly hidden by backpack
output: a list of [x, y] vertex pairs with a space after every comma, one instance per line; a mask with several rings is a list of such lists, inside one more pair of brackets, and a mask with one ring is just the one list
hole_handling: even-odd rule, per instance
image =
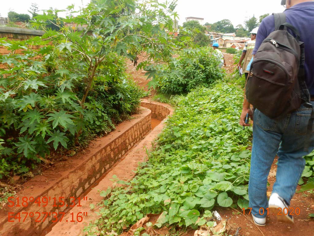
[[249, 62], [251, 61], [253, 55], [253, 49], [255, 47], [255, 39], [256, 39], [256, 35], [257, 35], [257, 30], [258, 27], [254, 28], [250, 33], [251, 33], [251, 40], [247, 41], [244, 48], [243, 48], [243, 52], [242, 55], [240, 57], [239, 63], [238, 63], [238, 68], [241, 67], [242, 61], [244, 59], [243, 62], [243, 72], [245, 74], [245, 78], [247, 78], [247, 76], [249, 75], [249, 71], [246, 69], [247, 65], [249, 64]]

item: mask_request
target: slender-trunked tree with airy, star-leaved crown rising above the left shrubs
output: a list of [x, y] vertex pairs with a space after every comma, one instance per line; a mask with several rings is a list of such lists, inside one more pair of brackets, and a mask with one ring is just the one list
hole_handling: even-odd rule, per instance
[[[72, 9], [73, 5], [68, 7], [68, 10]], [[57, 12], [59, 10], [48, 10], [47, 14], [44, 12], [36, 16], [33, 25], [45, 29], [47, 21], [56, 20], [62, 32], [56, 32], [58, 38], [52, 37], [52, 40], [59, 39], [59, 42], [54, 43], [59, 44], [60, 51], [72, 53], [70, 60], [77, 63], [73, 68], [84, 64], [84, 88], [82, 97], [77, 100], [82, 109], [86, 108], [89, 91], [95, 77], [100, 76], [99, 67], [106, 62], [108, 55], [116, 53], [125, 56], [137, 65], [138, 54], [146, 53], [147, 60], [138, 65], [138, 68], [143, 68], [151, 63], [150, 60], [167, 61], [174, 54], [175, 44], [168, 31], [172, 31], [176, 13], [157, 0], [143, 3], [134, 0], [106, 0], [105, 3], [92, 1], [79, 16], [67, 16], [62, 21], [57, 17]], [[63, 21], [88, 26], [83, 32], [73, 33], [71, 27], [64, 28], [61, 25]], [[77, 59], [72, 59], [74, 57]], [[81, 112], [79, 119], [83, 117], [84, 113]], [[81, 130], [78, 130], [76, 137], [81, 134]]]

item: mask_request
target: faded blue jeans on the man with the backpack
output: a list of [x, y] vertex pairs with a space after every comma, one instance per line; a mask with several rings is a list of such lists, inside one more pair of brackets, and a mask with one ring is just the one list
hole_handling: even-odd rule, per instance
[[[314, 102], [311, 104], [314, 105]], [[267, 177], [276, 154], [279, 159], [273, 193], [277, 193], [290, 205], [305, 166], [303, 156], [314, 149], [312, 133], [310, 148], [304, 150], [310, 115], [311, 109], [304, 106], [281, 119], [270, 119], [255, 110], [248, 191], [249, 207], [252, 207], [251, 213], [257, 218], [264, 218], [267, 214]], [[260, 214], [263, 210], [259, 212], [260, 208], [265, 210], [263, 215]]]

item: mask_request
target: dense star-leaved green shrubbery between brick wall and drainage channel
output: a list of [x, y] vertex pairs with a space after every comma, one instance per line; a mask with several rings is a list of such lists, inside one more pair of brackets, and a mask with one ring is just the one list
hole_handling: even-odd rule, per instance
[[[28, 41], [2, 45], [19, 48], [19, 43]], [[0, 56], [0, 63], [10, 61], [13, 66], [0, 70], [0, 179], [28, 172], [51, 148], [73, 147], [79, 130], [81, 146], [110, 132], [136, 111], [143, 96], [127, 79], [125, 58], [109, 53], [82, 109], [76, 102], [85, 88], [81, 68], [75, 67], [73, 73], [72, 62], [66, 59], [71, 55], [60, 55], [49, 45], [39, 50], [43, 51], [47, 56], [42, 60], [35, 53]]]

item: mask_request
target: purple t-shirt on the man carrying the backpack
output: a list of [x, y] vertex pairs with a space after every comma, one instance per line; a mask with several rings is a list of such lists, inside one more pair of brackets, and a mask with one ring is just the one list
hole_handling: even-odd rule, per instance
[[[300, 41], [305, 48], [305, 81], [311, 95], [314, 95], [314, 2], [294, 5], [284, 11], [287, 22], [295, 26], [300, 32]], [[274, 16], [267, 16], [258, 28], [255, 48], [257, 49], [267, 36], [275, 30]]]

